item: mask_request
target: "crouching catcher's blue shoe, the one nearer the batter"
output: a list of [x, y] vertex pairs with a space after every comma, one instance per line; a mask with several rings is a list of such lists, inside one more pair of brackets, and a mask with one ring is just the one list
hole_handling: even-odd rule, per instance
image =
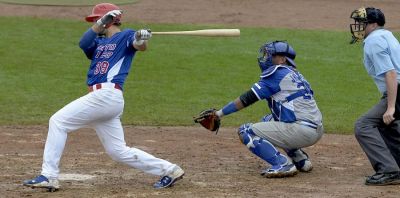
[[288, 162], [284, 165], [275, 165], [267, 168], [261, 172], [261, 175], [267, 178], [281, 178], [295, 176], [297, 172], [296, 166]]

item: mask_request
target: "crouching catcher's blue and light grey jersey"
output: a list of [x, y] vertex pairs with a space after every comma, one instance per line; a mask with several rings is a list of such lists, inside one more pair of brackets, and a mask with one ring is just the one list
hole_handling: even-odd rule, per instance
[[264, 71], [251, 90], [259, 100], [266, 99], [275, 121], [322, 122], [322, 114], [310, 84], [295, 69], [277, 65]]

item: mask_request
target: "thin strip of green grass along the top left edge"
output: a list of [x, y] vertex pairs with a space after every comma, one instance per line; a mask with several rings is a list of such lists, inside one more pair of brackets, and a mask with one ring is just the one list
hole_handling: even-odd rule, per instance
[[[113, 4], [129, 4], [138, 0], [114, 0]], [[25, 5], [52, 5], [52, 6], [89, 6], [103, 3], [104, 0], [0, 0], [2, 3]]]

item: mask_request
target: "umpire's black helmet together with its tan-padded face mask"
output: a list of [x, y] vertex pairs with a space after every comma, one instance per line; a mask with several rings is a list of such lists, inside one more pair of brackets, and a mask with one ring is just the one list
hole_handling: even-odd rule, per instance
[[365, 27], [368, 23], [377, 23], [379, 26], [385, 25], [385, 15], [383, 12], [380, 9], [372, 7], [358, 8], [351, 13], [350, 18], [354, 19], [354, 23], [350, 24], [350, 32], [352, 34], [350, 44], [365, 38]]

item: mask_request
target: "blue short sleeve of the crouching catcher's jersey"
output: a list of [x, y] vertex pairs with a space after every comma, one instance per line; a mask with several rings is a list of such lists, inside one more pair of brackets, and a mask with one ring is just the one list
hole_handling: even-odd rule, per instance
[[283, 76], [279, 72], [274, 73], [267, 78], [261, 78], [260, 81], [254, 83], [251, 90], [256, 94], [258, 100], [263, 100], [271, 97], [272, 95], [281, 91], [279, 83], [283, 79]]

